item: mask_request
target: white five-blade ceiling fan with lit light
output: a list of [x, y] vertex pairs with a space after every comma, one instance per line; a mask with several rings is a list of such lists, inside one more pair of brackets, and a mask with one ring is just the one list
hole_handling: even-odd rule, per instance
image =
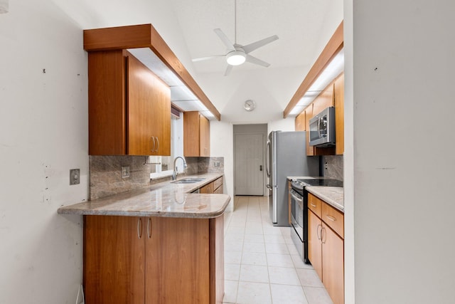
[[253, 57], [250, 55], [252, 51], [255, 51], [257, 48], [260, 48], [262, 46], [265, 46], [268, 43], [271, 43], [272, 41], [275, 41], [278, 39], [277, 35], [270, 36], [267, 38], [264, 38], [262, 40], [247, 44], [246, 46], [242, 46], [241, 44], [237, 43], [237, 0], [234, 2], [234, 30], [235, 30], [235, 42], [232, 43], [230, 42], [228, 36], [221, 31], [220, 28], [215, 28], [213, 31], [218, 35], [218, 37], [223, 41], [223, 43], [226, 46], [226, 53], [224, 55], [215, 55], [215, 56], [208, 56], [208, 57], [201, 57], [201, 58], [194, 58], [193, 62], [195, 61], [205, 61], [208, 59], [212, 58], [217, 58], [217, 57], [225, 57], [226, 62], [228, 63], [228, 68], [226, 68], [225, 71], [225, 76], [229, 75], [230, 71], [232, 70], [232, 66], [234, 65], [241, 65], [242, 63], [249, 62], [249, 63], [254, 63], [257, 65], [262, 65], [264, 67], [268, 67], [270, 63], [267, 63], [265, 61], [262, 61], [256, 57]]

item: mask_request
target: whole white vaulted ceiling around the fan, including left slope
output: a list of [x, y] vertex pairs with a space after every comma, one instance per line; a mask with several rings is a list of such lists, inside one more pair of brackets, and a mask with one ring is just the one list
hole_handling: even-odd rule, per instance
[[[223, 121], [264, 123], [279, 120], [311, 65], [343, 19], [340, 0], [52, 0], [83, 29], [151, 23], [186, 66]], [[252, 51], [270, 63], [235, 66], [224, 76], [225, 46], [213, 29], [246, 45], [268, 36], [279, 39]], [[252, 112], [245, 100], [255, 100]]]

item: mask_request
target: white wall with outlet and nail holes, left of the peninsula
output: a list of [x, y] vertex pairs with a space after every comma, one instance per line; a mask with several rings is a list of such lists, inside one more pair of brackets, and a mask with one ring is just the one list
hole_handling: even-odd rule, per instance
[[87, 199], [82, 32], [49, 1], [10, 1], [0, 46], [0, 303], [75, 303], [82, 216], [57, 209]]

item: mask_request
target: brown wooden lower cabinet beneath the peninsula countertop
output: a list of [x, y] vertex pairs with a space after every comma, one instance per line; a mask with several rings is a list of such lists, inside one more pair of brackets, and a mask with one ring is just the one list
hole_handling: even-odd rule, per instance
[[222, 303], [223, 215], [84, 216], [85, 303]]

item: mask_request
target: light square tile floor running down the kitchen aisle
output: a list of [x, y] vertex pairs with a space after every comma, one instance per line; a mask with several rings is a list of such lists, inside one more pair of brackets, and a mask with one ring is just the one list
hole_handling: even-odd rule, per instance
[[272, 226], [266, 196], [235, 196], [235, 211], [225, 213], [223, 303], [332, 303], [290, 233]]

